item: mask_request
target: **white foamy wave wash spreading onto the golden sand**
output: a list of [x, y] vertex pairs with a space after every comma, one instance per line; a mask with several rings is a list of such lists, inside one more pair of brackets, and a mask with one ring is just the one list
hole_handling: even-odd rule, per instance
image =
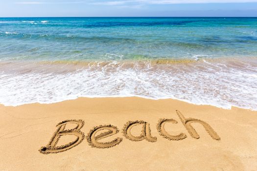
[[163, 68], [150, 64], [126, 67], [113, 62], [63, 73], [44, 68], [5, 71], [0, 74], [0, 103], [17, 106], [77, 97], [138, 96], [257, 110], [256, 65], [247, 64], [247, 68], [244, 63], [225, 65], [207, 62]]

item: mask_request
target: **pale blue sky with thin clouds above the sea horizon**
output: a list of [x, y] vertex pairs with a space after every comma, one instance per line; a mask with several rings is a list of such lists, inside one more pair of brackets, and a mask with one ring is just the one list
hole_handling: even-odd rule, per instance
[[0, 0], [0, 17], [257, 17], [257, 0]]

